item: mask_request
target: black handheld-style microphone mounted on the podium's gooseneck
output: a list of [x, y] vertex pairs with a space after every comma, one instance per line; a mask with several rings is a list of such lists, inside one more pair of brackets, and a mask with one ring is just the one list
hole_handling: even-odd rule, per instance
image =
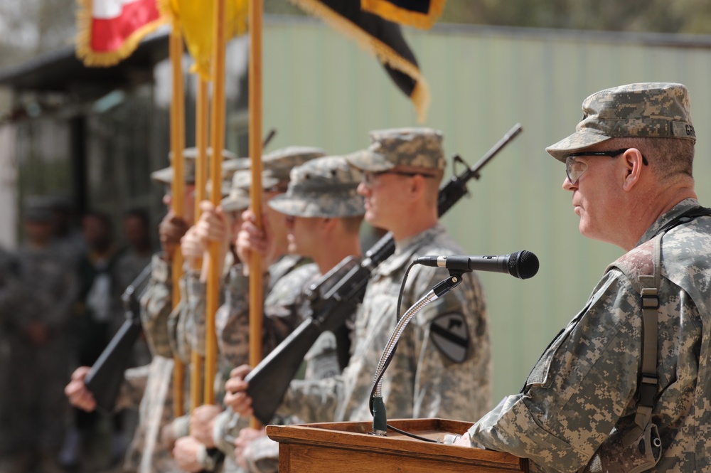
[[513, 277], [527, 280], [538, 272], [538, 257], [527, 250], [510, 255], [481, 256], [423, 256], [415, 260], [420, 265], [444, 267], [460, 271], [508, 272]]

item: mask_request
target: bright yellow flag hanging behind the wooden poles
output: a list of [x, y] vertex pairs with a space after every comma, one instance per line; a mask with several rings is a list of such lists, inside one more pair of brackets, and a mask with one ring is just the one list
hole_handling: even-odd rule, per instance
[[[210, 80], [210, 58], [213, 54], [215, 2], [212, 0], [159, 0], [161, 11], [171, 17], [173, 28], [181, 28], [188, 53], [195, 63], [191, 72]], [[248, 0], [228, 0], [225, 41], [247, 33]]]

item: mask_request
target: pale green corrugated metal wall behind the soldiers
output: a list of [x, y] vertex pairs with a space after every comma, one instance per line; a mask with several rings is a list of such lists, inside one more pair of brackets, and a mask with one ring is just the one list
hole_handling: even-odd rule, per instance
[[[684, 83], [699, 138], [697, 191], [711, 205], [705, 133], [711, 38], [474, 26], [406, 36], [432, 95], [424, 125], [444, 132], [449, 156], [474, 164], [515, 123], [523, 125], [523, 134], [471, 182], [471, 196], [444, 218], [471, 254], [526, 249], [540, 259], [531, 280], [481, 274], [496, 403], [519, 390], [607, 263], [622, 253], [578, 233], [570, 193], [561, 188], [564, 169], [544, 148], [573, 131], [592, 92], [633, 82]], [[370, 129], [417, 125], [410, 102], [375, 58], [321, 23], [267, 18], [263, 57], [264, 129], [279, 131], [269, 149], [308, 144], [345, 154], [366, 147]]]

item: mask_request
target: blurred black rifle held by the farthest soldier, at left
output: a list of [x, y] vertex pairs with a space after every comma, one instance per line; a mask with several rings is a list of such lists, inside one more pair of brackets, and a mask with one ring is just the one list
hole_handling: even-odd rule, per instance
[[[94, 395], [97, 406], [112, 412], [128, 366], [131, 350], [143, 328], [141, 326], [140, 294], [151, 275], [149, 263], [133, 282], [124, 290], [121, 302], [126, 320], [113, 336], [109, 344], [91, 367], [84, 384]], [[140, 288], [140, 289], [139, 289]]]

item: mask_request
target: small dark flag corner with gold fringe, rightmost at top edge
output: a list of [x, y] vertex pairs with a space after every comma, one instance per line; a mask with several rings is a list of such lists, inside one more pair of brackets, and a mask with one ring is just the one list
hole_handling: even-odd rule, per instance
[[401, 25], [429, 30], [447, 0], [360, 0], [360, 8]]

